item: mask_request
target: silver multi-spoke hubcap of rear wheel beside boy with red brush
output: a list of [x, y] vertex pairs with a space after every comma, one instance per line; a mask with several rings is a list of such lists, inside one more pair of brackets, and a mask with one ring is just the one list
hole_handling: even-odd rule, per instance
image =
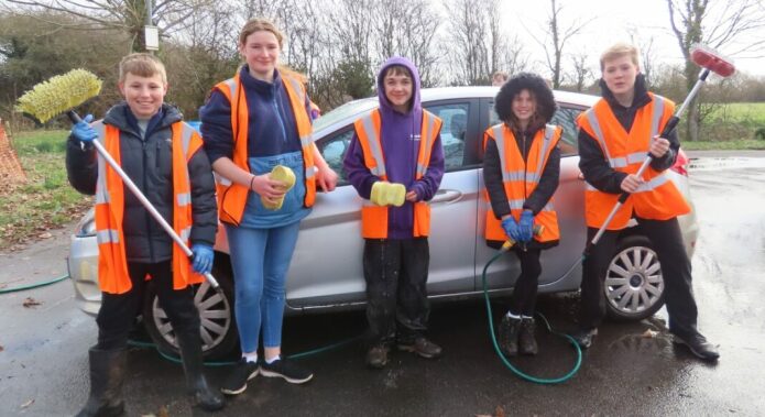
[[618, 253], [609, 265], [604, 289], [608, 301], [622, 314], [634, 315], [653, 307], [664, 293], [656, 252], [632, 246]]

